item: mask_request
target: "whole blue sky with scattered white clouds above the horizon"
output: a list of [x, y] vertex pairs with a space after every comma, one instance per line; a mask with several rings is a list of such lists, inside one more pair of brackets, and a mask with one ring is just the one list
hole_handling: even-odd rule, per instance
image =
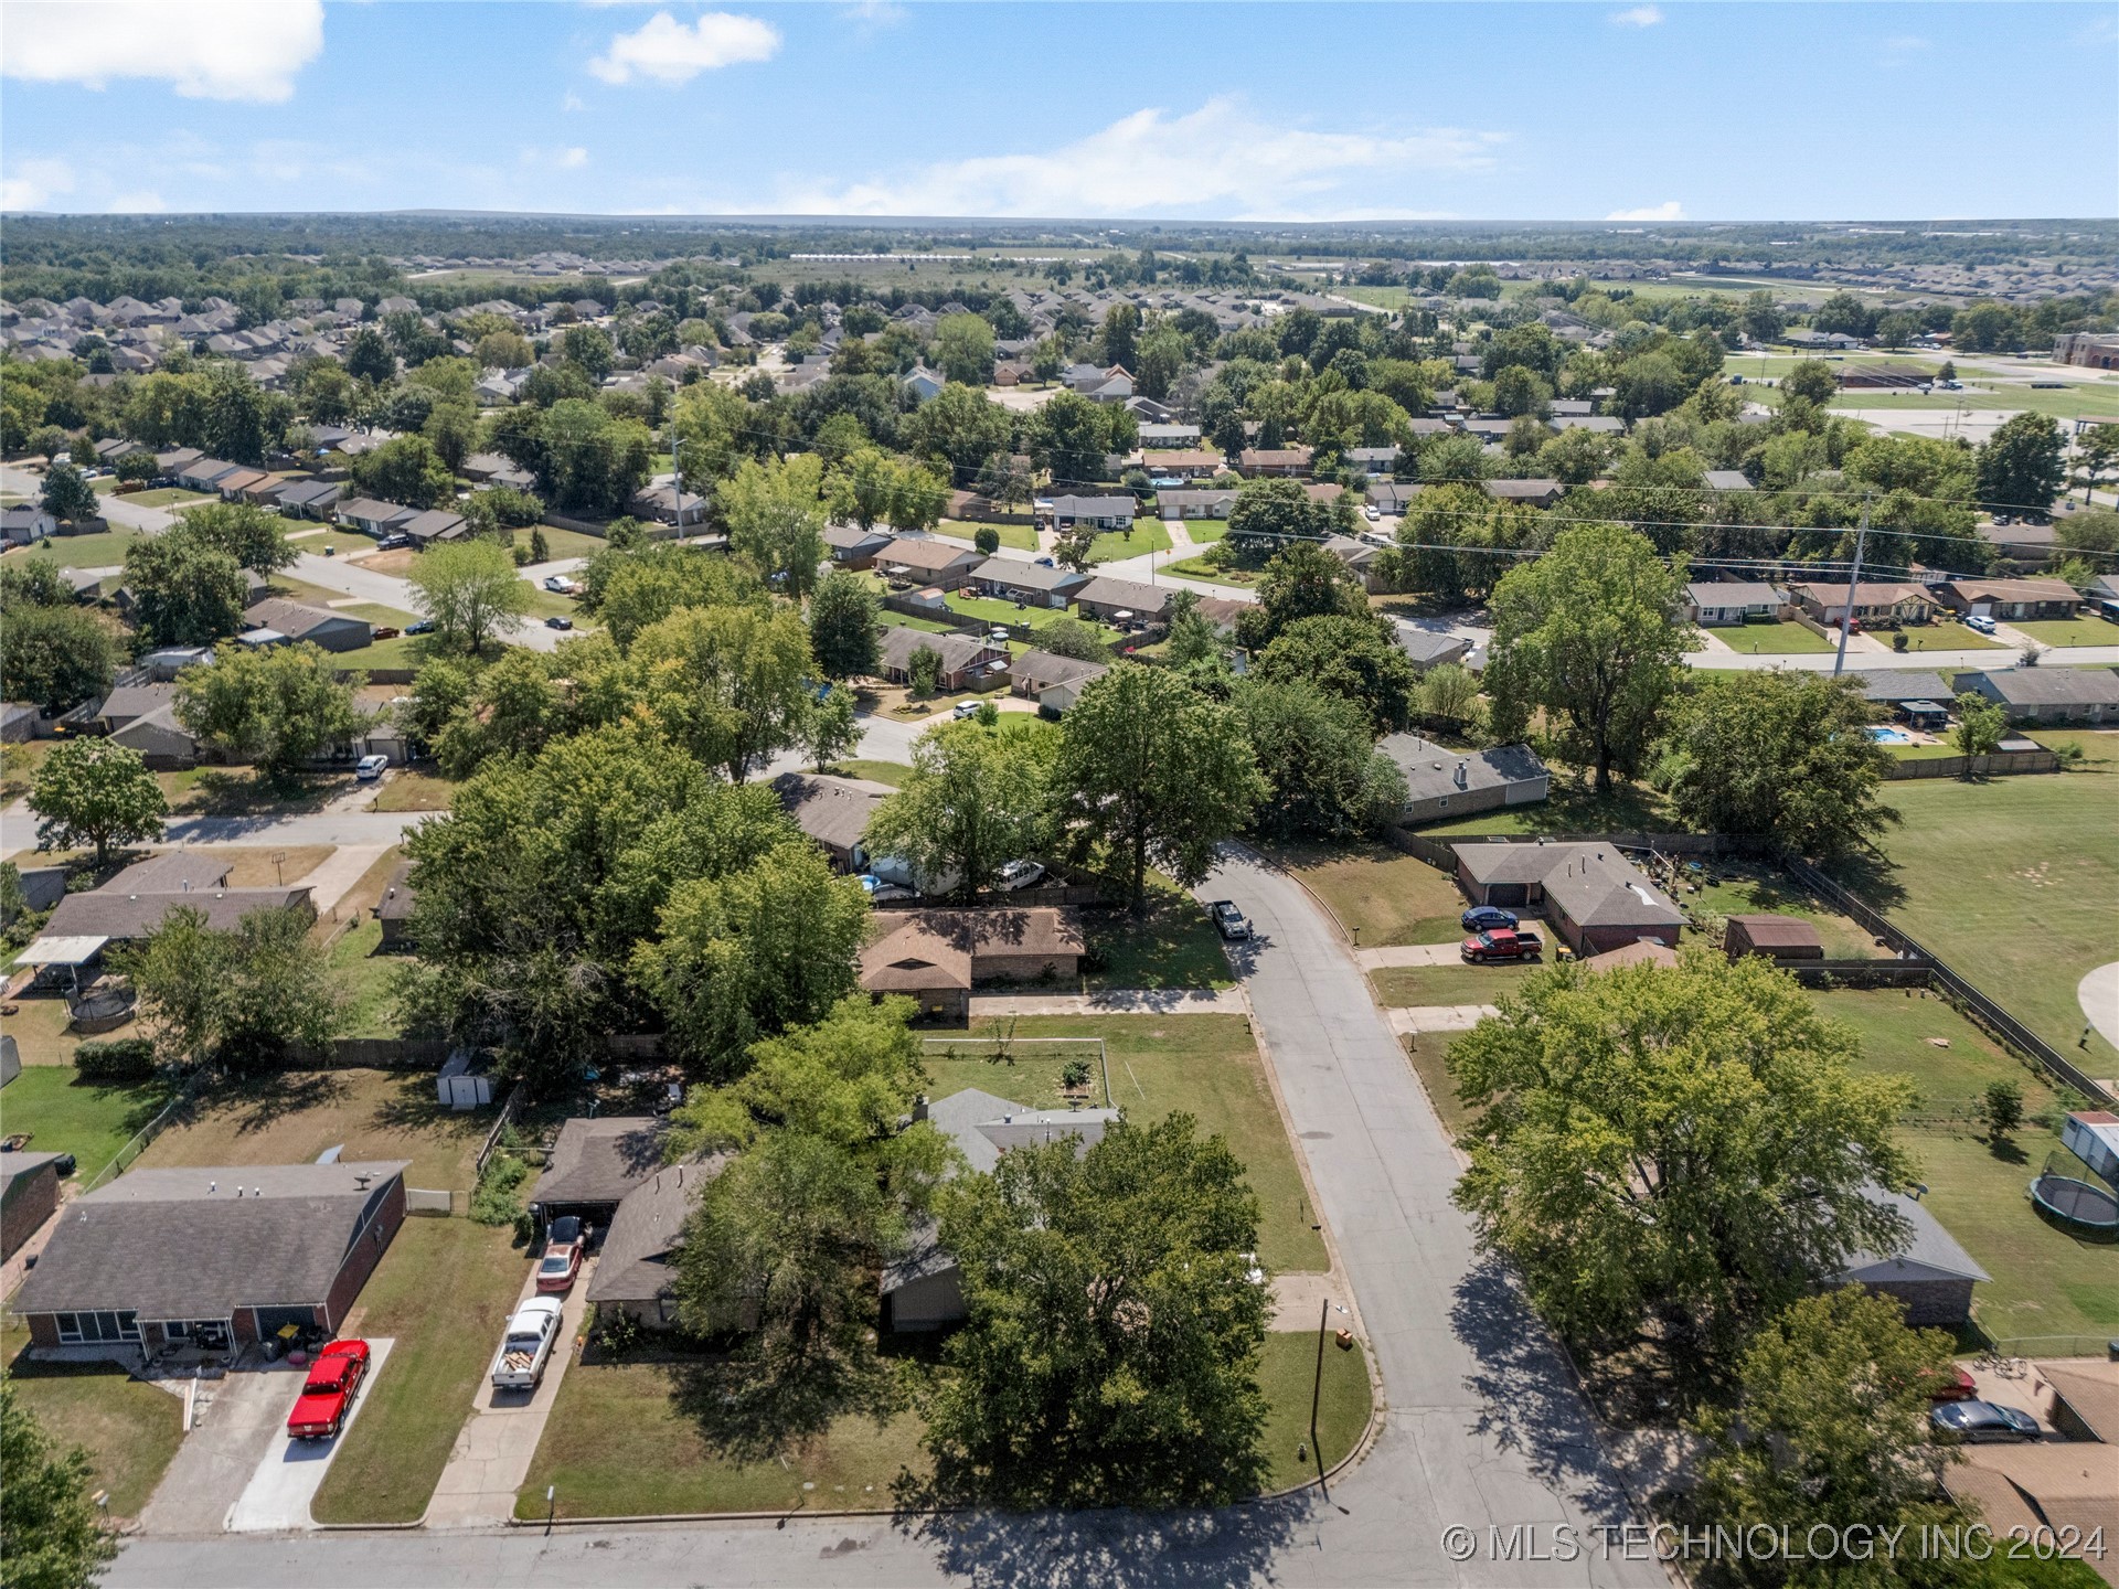
[[8, 0], [0, 208], [2111, 216], [2115, 4]]

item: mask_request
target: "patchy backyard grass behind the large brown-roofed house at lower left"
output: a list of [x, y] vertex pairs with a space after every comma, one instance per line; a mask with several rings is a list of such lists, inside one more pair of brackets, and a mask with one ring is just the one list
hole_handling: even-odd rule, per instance
[[[265, 1076], [199, 1104], [140, 1155], [172, 1165], [311, 1163], [343, 1146], [348, 1163], [407, 1159], [407, 1186], [468, 1191], [492, 1110], [443, 1108], [424, 1072], [309, 1070]], [[417, 1225], [417, 1220], [413, 1220]]]

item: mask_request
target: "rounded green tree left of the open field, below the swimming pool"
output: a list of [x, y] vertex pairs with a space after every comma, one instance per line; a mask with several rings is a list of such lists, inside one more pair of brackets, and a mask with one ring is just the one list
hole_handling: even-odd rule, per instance
[[1676, 712], [1670, 788], [1699, 833], [1746, 833], [1782, 852], [1841, 860], [1873, 850], [1899, 820], [1877, 799], [1890, 752], [1869, 735], [1852, 678], [1738, 672], [1714, 676]]

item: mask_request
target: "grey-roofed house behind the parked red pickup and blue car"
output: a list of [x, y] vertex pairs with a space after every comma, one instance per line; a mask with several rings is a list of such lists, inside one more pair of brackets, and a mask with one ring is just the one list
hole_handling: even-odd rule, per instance
[[1608, 843], [1460, 843], [1458, 883], [1473, 905], [1543, 909], [1579, 956], [1653, 939], [1678, 947], [1685, 913]]

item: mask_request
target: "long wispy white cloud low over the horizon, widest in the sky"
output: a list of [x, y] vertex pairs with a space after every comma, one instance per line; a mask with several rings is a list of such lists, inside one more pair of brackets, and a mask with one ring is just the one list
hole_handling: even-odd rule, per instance
[[778, 208], [871, 216], [1127, 216], [1233, 203], [1257, 216], [1284, 216], [1290, 208], [1312, 208], [1303, 201], [1354, 176], [1483, 169], [1496, 142], [1496, 133], [1458, 127], [1399, 138], [1284, 127], [1218, 97], [1182, 117], [1136, 110], [1047, 155], [977, 155], [903, 178], [790, 189]]

